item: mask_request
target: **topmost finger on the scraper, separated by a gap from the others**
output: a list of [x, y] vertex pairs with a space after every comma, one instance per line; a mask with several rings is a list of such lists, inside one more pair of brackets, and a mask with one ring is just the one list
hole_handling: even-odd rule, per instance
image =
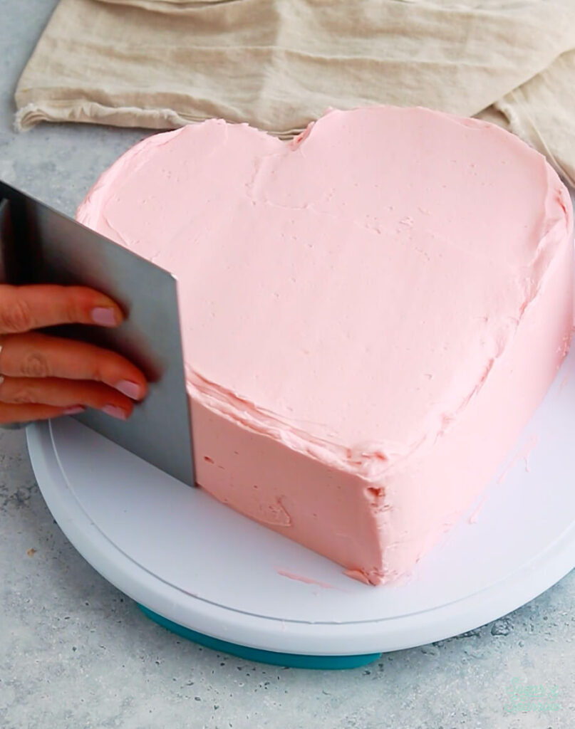
[[115, 327], [122, 320], [117, 303], [85, 286], [0, 287], [0, 334], [28, 332], [55, 324]]

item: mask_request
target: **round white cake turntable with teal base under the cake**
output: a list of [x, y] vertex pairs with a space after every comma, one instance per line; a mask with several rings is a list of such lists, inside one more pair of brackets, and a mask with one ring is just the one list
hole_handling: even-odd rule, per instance
[[575, 347], [482, 499], [412, 577], [379, 588], [77, 421], [27, 437], [86, 561], [156, 622], [250, 660], [360, 666], [501, 617], [575, 566]]

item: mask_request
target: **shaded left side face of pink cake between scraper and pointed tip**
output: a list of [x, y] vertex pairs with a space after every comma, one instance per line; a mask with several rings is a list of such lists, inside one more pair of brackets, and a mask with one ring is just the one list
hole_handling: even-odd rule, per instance
[[209, 494], [348, 568], [382, 569], [378, 486], [191, 399], [196, 479]]

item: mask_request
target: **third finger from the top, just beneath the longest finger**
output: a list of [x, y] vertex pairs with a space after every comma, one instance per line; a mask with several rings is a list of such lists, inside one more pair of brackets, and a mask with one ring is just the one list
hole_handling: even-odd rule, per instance
[[121, 420], [129, 418], [134, 410], [131, 399], [107, 385], [56, 378], [0, 376], [0, 402], [19, 405], [42, 403], [66, 409], [88, 405]]

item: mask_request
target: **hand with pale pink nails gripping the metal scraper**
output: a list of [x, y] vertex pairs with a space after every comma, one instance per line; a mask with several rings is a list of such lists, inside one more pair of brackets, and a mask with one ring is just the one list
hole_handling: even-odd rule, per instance
[[37, 329], [123, 321], [109, 297], [83, 286], [0, 284], [0, 424], [98, 408], [126, 419], [147, 392], [146, 378], [115, 352]]

